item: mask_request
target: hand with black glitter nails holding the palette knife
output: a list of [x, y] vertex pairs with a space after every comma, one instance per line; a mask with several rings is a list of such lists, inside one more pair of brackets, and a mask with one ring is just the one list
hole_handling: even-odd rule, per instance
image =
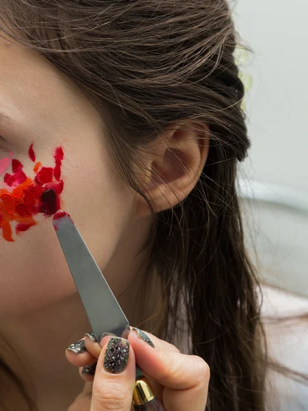
[[[208, 364], [200, 357], [180, 353], [176, 347], [152, 334], [132, 330], [127, 340], [108, 336], [102, 338], [100, 344], [86, 334], [81, 342], [74, 343], [66, 350], [66, 358], [81, 367], [79, 373], [85, 380], [83, 392], [76, 397], [68, 411], [132, 410], [136, 362], [166, 411], [204, 411], [210, 379]], [[90, 336], [95, 339], [93, 333]], [[147, 337], [155, 348], [142, 339]], [[81, 347], [83, 352], [73, 352], [72, 349], [77, 351], [76, 347]], [[116, 366], [109, 361], [114, 356], [110, 356], [112, 348], [116, 348], [113, 353], [122, 351]], [[124, 349], [129, 351], [126, 366]], [[96, 362], [96, 366], [91, 366]], [[107, 365], [107, 369], [104, 365]], [[94, 372], [95, 375], [91, 375]]]

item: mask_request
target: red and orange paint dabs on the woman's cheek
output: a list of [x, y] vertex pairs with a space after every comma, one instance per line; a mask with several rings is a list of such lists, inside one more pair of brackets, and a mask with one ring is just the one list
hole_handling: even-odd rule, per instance
[[60, 195], [64, 189], [64, 182], [61, 179], [61, 165], [64, 159], [62, 147], [55, 149], [54, 167], [44, 167], [41, 162], [36, 162], [32, 144], [28, 154], [31, 161], [35, 162], [33, 179], [25, 174], [23, 164], [19, 160], [10, 158], [12, 174], [6, 173], [3, 177], [8, 188], [0, 189], [0, 232], [2, 231], [1, 234], [7, 241], [14, 241], [13, 223], [16, 223], [16, 234], [20, 234], [37, 224], [34, 216], [39, 213], [46, 217], [52, 216], [61, 205]]

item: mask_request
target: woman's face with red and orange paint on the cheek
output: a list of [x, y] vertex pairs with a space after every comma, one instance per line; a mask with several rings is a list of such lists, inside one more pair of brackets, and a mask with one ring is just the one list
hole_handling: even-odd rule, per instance
[[[98, 112], [76, 86], [42, 56], [3, 38], [0, 61], [0, 113], [10, 117], [0, 121], [1, 319], [76, 292], [48, 207], [61, 199], [104, 269], [131, 228], [136, 198], [111, 171]], [[109, 277], [112, 286], [117, 281]]]

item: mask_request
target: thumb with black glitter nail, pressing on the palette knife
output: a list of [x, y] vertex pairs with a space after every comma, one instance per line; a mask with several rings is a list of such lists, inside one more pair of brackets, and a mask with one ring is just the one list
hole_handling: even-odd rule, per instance
[[135, 365], [134, 350], [128, 340], [109, 337], [96, 366], [91, 411], [130, 411]]

